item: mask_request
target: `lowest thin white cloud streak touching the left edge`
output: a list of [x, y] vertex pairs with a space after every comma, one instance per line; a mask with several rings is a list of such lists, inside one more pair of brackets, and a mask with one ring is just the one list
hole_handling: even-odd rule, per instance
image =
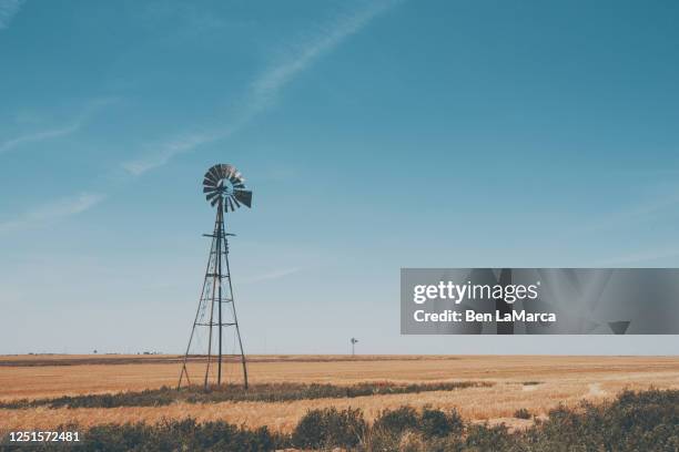
[[37, 224], [54, 222], [88, 210], [104, 199], [99, 193], [81, 193], [73, 197], [57, 199], [24, 212], [17, 218], [0, 223], [0, 233], [17, 230]]

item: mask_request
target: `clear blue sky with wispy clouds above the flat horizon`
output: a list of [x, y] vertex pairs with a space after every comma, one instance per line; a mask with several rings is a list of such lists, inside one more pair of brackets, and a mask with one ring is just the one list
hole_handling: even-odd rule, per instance
[[180, 351], [213, 210], [247, 352], [401, 337], [401, 267], [679, 264], [673, 1], [0, 0], [0, 352]]

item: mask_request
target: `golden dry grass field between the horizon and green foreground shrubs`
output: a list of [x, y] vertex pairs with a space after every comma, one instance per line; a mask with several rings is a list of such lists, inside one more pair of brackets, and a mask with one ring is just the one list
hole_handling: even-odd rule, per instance
[[[174, 386], [180, 371], [172, 356], [21, 356], [0, 357], [0, 400], [107, 393]], [[237, 376], [237, 368], [230, 364]], [[191, 364], [197, 376], [201, 364]], [[155, 422], [162, 418], [225, 420], [249, 427], [290, 431], [308, 410], [361, 408], [368, 419], [403, 404], [457, 408], [463, 417], [520, 425], [519, 408], [536, 414], [580, 400], [604, 400], [622, 389], [679, 389], [679, 357], [536, 356], [254, 356], [251, 382], [488, 381], [493, 387], [405, 394], [316, 399], [291, 402], [173, 403], [165, 407], [0, 409], [0, 432], [53, 428], [77, 422]], [[528, 383], [528, 384], [527, 384]]]

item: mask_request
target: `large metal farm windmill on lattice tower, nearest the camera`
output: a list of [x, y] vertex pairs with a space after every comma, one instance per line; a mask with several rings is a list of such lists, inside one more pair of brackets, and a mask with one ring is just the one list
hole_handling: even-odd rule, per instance
[[[247, 389], [247, 364], [245, 362], [245, 352], [243, 351], [241, 330], [239, 329], [231, 270], [229, 267], [227, 237], [233, 236], [233, 234], [227, 234], [225, 230], [225, 218], [229, 212], [235, 212], [241, 205], [251, 207], [252, 192], [245, 188], [244, 181], [235, 167], [226, 164], [212, 166], [207, 170], [203, 179], [203, 193], [210, 205], [216, 207], [216, 218], [214, 220], [213, 233], [203, 234], [203, 236], [212, 238], [212, 245], [207, 257], [207, 268], [205, 270], [199, 307], [193, 320], [186, 352], [184, 353], [178, 389], [182, 387], [184, 377], [186, 384], [191, 384], [186, 363], [190, 358], [195, 357], [193, 353], [190, 355], [191, 347], [200, 336], [199, 331], [204, 330], [206, 330], [207, 355], [203, 386], [206, 390], [210, 388], [211, 371], [214, 371], [214, 364], [216, 364], [216, 376], [212, 376], [213, 383], [216, 386], [222, 384], [223, 339], [225, 336], [224, 330], [227, 329], [235, 333], [234, 342], [237, 342], [237, 348], [234, 346], [236, 350], [234, 350], [232, 356], [239, 357], [240, 355], [240, 361], [243, 367], [243, 383], [245, 389]], [[240, 353], [235, 351], [240, 351]], [[203, 356], [203, 353], [199, 355], [200, 357]]]

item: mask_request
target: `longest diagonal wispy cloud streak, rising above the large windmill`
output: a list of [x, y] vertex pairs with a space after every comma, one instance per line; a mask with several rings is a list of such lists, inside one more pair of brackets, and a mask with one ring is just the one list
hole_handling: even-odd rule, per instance
[[123, 163], [123, 168], [130, 174], [139, 176], [166, 164], [176, 155], [192, 152], [201, 145], [229, 137], [246, 125], [254, 116], [273, 105], [281, 90], [290, 84], [295, 76], [311, 68], [321, 56], [331, 52], [395, 3], [395, 0], [379, 1], [367, 8], [335, 17], [331, 23], [318, 28], [318, 32], [293, 47], [293, 50], [286, 55], [272, 63], [250, 84], [243, 103], [244, 106], [237, 112], [231, 124], [214, 131], [175, 136], [156, 145], [154, 151]]

